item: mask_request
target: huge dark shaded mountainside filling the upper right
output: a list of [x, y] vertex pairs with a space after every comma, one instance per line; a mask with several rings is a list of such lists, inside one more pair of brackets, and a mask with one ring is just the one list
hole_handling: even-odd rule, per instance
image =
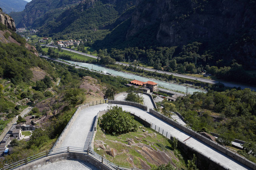
[[[98, 48], [178, 46], [200, 42], [214, 61], [236, 59], [256, 68], [255, 1], [144, 1], [138, 0], [133, 16], [115, 28]], [[118, 36], [117, 36], [118, 35]], [[122, 42], [122, 43], [120, 43]]]

